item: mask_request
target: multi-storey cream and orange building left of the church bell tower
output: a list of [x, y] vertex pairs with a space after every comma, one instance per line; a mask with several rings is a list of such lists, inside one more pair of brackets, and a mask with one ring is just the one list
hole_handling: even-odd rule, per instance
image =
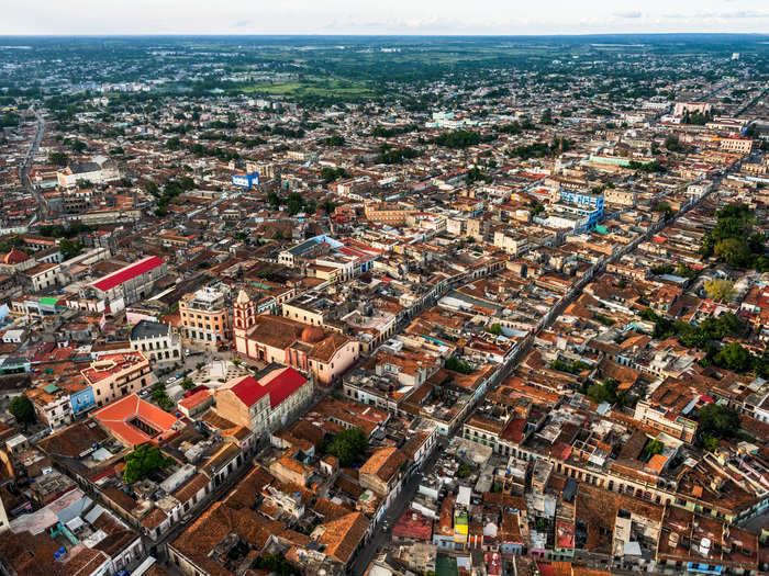
[[181, 338], [189, 346], [218, 349], [230, 341], [230, 310], [224, 294], [201, 289], [179, 301]]

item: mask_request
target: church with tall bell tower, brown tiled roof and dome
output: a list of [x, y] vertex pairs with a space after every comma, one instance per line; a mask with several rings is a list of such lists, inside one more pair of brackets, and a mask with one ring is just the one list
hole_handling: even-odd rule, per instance
[[233, 308], [235, 349], [244, 357], [289, 364], [322, 384], [334, 382], [358, 359], [357, 340], [290, 318], [258, 315], [245, 291]]

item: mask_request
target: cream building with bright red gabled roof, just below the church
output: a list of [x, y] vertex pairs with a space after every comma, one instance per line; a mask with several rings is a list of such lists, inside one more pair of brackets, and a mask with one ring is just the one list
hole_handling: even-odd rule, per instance
[[270, 364], [256, 376], [222, 385], [216, 391], [216, 413], [257, 436], [268, 433], [303, 408], [312, 391], [312, 380], [292, 368]]

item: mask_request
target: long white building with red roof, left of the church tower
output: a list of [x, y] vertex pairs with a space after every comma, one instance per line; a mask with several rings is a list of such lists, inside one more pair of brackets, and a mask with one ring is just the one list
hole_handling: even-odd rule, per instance
[[155, 282], [167, 272], [166, 262], [148, 256], [92, 282], [91, 287], [99, 300], [112, 303], [122, 298], [123, 305], [129, 305], [149, 296]]

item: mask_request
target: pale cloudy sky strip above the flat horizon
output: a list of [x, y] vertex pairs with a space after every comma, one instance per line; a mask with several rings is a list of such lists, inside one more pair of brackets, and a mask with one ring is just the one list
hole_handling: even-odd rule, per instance
[[0, 0], [0, 35], [769, 33], [769, 0]]

